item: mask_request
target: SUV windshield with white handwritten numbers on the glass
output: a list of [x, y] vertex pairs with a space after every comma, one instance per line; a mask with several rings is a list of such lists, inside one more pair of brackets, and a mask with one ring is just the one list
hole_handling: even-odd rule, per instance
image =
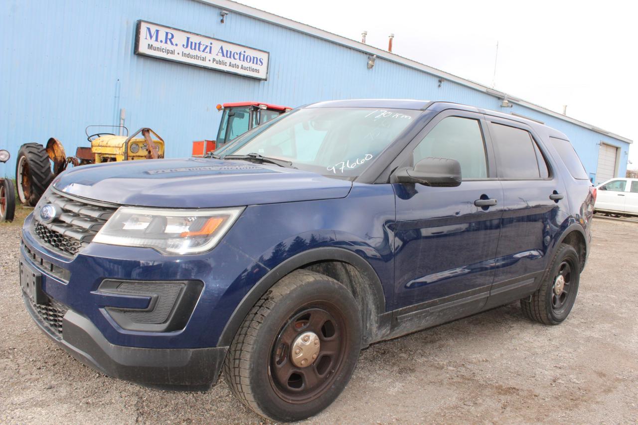
[[258, 154], [290, 161], [301, 170], [353, 178], [420, 113], [375, 108], [299, 109], [255, 128], [216, 154]]

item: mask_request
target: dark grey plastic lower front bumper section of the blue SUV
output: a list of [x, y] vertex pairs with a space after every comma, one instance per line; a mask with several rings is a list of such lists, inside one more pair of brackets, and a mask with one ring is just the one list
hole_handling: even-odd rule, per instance
[[69, 309], [62, 336], [53, 332], [23, 294], [27, 311], [40, 329], [87, 366], [110, 377], [161, 389], [204, 391], [214, 384], [228, 347], [138, 348], [114, 345], [89, 320]]

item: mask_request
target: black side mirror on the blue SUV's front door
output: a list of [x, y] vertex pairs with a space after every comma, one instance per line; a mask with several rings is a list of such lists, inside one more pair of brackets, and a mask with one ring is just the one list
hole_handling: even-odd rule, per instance
[[393, 183], [418, 183], [424, 186], [454, 188], [461, 184], [461, 164], [449, 158], [424, 158], [413, 168], [399, 168]]

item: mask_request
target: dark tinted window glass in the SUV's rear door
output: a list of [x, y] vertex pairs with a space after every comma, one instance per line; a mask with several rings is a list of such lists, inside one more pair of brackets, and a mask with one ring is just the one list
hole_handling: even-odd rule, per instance
[[490, 123], [489, 130], [501, 178], [533, 180], [549, 176], [547, 162], [529, 131], [496, 123]]

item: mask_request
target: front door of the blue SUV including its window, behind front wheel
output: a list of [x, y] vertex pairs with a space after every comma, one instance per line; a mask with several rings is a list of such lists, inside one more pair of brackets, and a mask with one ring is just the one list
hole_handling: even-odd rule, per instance
[[[443, 111], [401, 154], [400, 167], [427, 157], [457, 160], [463, 181], [456, 188], [392, 184], [397, 334], [477, 312], [489, 296], [503, 190], [484, 125], [480, 114]], [[482, 199], [494, 204], [475, 205]]]

